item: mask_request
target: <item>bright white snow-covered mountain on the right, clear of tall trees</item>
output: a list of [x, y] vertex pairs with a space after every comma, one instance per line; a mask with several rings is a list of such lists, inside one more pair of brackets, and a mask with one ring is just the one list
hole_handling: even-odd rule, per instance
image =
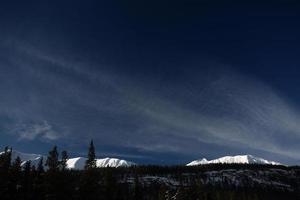
[[216, 163], [282, 165], [281, 163], [265, 160], [263, 158], [255, 157], [252, 155], [237, 155], [237, 156], [225, 156], [214, 160], [206, 160], [205, 158], [203, 158], [200, 160], [194, 160], [188, 163], [187, 166], [216, 164]]

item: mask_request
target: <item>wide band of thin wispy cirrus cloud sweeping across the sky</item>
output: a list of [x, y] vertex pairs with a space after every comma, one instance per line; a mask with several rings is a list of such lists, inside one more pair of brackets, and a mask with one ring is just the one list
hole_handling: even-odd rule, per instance
[[[16, 51], [20, 56], [13, 65], [35, 85], [25, 87], [28, 101], [14, 107], [13, 117], [28, 123], [44, 120], [19, 129], [16, 124], [20, 139], [53, 141], [72, 132], [74, 140], [92, 137], [148, 152], [189, 154], [206, 143], [300, 159], [298, 108], [267, 84], [231, 68], [182, 67], [175, 79], [164, 74], [136, 78], [28, 46]], [[25, 117], [29, 110], [31, 117]]]

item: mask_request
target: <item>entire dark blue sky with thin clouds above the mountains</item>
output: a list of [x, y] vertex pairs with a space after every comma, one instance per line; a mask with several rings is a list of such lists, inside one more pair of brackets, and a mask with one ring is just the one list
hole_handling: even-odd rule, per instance
[[[7, 1], [8, 2], [8, 1]], [[300, 3], [0, 4], [0, 146], [300, 162]]]

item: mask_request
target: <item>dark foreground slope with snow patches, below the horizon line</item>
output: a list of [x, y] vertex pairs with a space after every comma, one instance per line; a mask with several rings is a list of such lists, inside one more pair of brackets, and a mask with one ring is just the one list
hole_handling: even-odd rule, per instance
[[300, 168], [137, 166], [82, 171], [0, 165], [0, 199], [300, 199]]

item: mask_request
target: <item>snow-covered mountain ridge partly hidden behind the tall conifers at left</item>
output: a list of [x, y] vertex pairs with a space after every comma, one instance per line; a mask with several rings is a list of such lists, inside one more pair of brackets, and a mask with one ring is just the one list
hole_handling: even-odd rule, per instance
[[[0, 152], [0, 155], [3, 152]], [[39, 155], [39, 154], [28, 154], [22, 153], [19, 151], [12, 151], [12, 161], [14, 161], [17, 157], [20, 157], [22, 160], [22, 165], [24, 165], [27, 161], [31, 161], [32, 165], [37, 166], [41, 158], [44, 159], [44, 164], [47, 157]], [[84, 157], [70, 158], [67, 160], [67, 168], [68, 169], [84, 169], [85, 161], [87, 159]], [[97, 167], [130, 167], [135, 165], [133, 162], [129, 162], [126, 160], [121, 160], [117, 158], [103, 158], [96, 159]]]

